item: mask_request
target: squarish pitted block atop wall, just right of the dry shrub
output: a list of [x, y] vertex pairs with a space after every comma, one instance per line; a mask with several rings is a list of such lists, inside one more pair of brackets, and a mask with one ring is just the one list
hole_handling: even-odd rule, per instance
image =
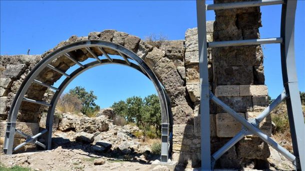
[[165, 49], [165, 55], [168, 58], [183, 58], [184, 57], [183, 40], [166, 41], [166, 45], [165, 45], [164, 49]]

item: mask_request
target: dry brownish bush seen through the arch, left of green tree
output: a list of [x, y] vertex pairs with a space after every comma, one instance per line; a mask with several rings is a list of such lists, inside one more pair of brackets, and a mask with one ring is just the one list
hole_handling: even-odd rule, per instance
[[81, 110], [81, 104], [80, 99], [76, 95], [67, 93], [59, 98], [56, 108], [63, 113], [79, 112]]

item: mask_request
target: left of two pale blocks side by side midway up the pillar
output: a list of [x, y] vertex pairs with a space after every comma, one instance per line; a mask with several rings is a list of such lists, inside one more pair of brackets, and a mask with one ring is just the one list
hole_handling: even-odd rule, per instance
[[239, 85], [218, 85], [215, 96], [239, 96]]

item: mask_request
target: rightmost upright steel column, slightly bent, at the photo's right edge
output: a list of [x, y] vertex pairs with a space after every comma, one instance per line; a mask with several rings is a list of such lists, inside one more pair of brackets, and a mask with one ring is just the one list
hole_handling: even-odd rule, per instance
[[305, 124], [302, 115], [294, 60], [294, 18], [296, 0], [285, 0], [281, 10], [280, 45], [283, 85], [290, 98], [286, 100], [296, 170], [305, 170]]

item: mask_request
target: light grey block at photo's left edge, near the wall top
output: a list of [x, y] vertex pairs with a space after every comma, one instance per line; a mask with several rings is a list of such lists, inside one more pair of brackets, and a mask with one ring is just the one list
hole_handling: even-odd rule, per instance
[[6, 65], [6, 69], [1, 73], [2, 78], [18, 78], [25, 70], [25, 64]]

